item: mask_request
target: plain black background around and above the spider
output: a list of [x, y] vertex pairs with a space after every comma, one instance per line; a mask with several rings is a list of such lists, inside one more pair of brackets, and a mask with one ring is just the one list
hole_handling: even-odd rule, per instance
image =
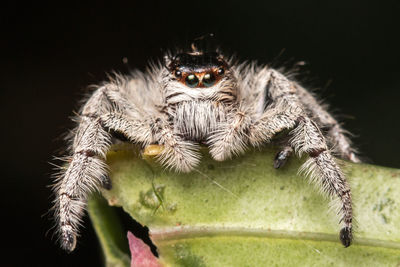
[[0, 265], [101, 263], [88, 219], [72, 254], [46, 235], [52, 200], [46, 187], [52, 173], [48, 162], [63, 147], [58, 137], [72, 125], [68, 117], [87, 85], [101, 82], [112, 70], [144, 69], [165, 49], [187, 45], [205, 33], [215, 33], [222, 48], [241, 59], [276, 66], [305, 61], [303, 84], [319, 88], [318, 94], [355, 134], [361, 154], [369, 162], [400, 168], [400, 5], [334, 3], [70, 1], [2, 7], [5, 248]]

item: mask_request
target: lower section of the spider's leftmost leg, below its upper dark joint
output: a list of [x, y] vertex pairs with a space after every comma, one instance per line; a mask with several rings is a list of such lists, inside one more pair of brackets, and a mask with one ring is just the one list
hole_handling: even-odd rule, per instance
[[86, 133], [82, 137], [85, 141], [76, 147], [56, 192], [61, 245], [69, 251], [76, 245], [87, 194], [102, 184], [109, 184], [104, 158], [110, 144], [110, 134], [102, 129], [98, 120], [88, 119], [83, 124]]

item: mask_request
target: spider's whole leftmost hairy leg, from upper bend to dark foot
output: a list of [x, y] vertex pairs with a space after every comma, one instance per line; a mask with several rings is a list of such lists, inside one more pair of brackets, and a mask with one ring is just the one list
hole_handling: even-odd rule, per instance
[[105, 158], [112, 136], [104, 127], [101, 114], [115, 109], [124, 112], [130, 110], [131, 114], [137, 112], [124, 101], [119, 88], [112, 84], [99, 88], [89, 98], [78, 116], [68, 167], [54, 185], [60, 242], [68, 251], [76, 246], [88, 194], [100, 186], [111, 188]]

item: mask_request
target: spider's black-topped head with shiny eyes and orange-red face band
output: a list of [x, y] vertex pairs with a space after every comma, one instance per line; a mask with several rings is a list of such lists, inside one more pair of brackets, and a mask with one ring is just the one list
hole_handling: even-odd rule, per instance
[[228, 70], [222, 55], [216, 52], [186, 52], [174, 56], [168, 64], [172, 77], [191, 88], [218, 84]]

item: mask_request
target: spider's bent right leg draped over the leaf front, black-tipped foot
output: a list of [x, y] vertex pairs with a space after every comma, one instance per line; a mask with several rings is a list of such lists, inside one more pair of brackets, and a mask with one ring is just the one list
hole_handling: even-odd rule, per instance
[[311, 174], [313, 181], [320, 185], [329, 196], [336, 195], [341, 203], [340, 240], [345, 247], [352, 241], [352, 203], [347, 180], [328, 150], [325, 138], [316, 123], [308, 118], [298, 99], [292, 82], [276, 71], [271, 71], [270, 97], [274, 101], [264, 114], [248, 129], [249, 142], [259, 145], [269, 142], [285, 129], [291, 132], [291, 146], [298, 154], [307, 153], [310, 159], [302, 169]]

